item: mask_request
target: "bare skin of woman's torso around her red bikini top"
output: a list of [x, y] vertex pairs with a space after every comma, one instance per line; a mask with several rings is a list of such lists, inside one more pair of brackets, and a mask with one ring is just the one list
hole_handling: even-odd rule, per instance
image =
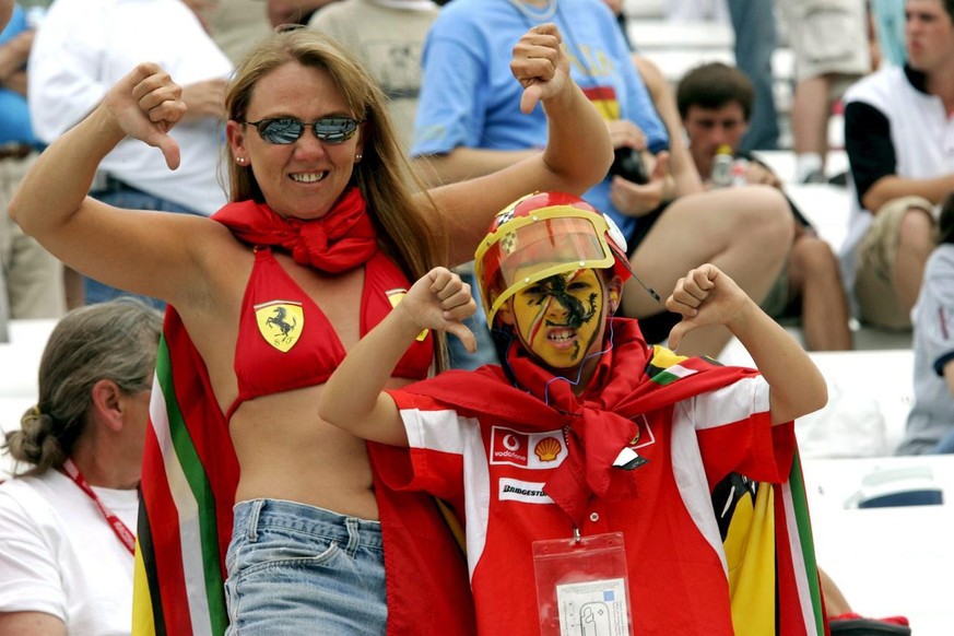
[[[185, 311], [186, 327], [209, 369], [215, 399], [226, 412], [238, 396], [234, 352], [245, 281], [252, 254], [225, 242], [231, 260], [216, 261], [217, 295], [212, 313]], [[237, 249], [231, 249], [237, 247]], [[302, 268], [287, 256], [275, 258], [295, 282], [321, 306], [345, 350], [360, 338], [364, 271], [325, 275]], [[201, 306], [200, 306], [201, 308]], [[392, 379], [393, 386], [408, 380]], [[366, 443], [322, 422], [316, 411], [323, 385], [243, 402], [228, 425], [240, 467], [236, 502], [274, 498], [318, 506], [342, 515], [377, 519]]]

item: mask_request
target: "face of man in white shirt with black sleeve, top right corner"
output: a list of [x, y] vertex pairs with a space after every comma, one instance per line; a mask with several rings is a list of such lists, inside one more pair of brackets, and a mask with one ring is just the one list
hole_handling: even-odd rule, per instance
[[908, 0], [905, 38], [912, 69], [938, 72], [954, 60], [954, 24], [940, 0]]

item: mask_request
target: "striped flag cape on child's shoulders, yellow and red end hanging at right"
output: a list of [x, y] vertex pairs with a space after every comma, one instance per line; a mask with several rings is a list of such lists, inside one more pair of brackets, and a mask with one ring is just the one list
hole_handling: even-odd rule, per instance
[[[613, 348], [603, 354], [601, 368], [584, 394], [627, 416], [757, 373], [722, 366], [708, 357], [680, 356], [658, 345], [650, 348], [635, 320], [611, 319], [611, 326], [608, 332]], [[531, 377], [537, 372], [525, 364], [533, 363], [522, 353], [511, 352], [508, 363], [520, 388], [513, 386], [511, 377], [500, 367], [484, 366], [471, 375], [446, 372], [402, 391], [529, 426], [541, 421], [547, 425], [561, 422], [563, 414], [541, 403], [539, 390], [534, 390], [534, 386], [547, 385], [552, 376]], [[593, 382], [598, 390], [593, 390]], [[541, 413], [544, 410], [546, 413]], [[826, 624], [793, 425], [776, 425], [772, 435], [784, 456], [774, 476], [776, 483], [764, 475], [756, 475], [766, 480], [761, 483], [737, 473], [716, 478], [720, 481], [714, 488], [714, 514], [720, 529], [731, 526], [731, 531], [723, 531], [722, 546], [714, 547], [725, 553], [732, 622], [739, 636], [818, 636], [826, 633]], [[735, 505], [721, 503], [718, 494], [723, 491], [733, 493]]]

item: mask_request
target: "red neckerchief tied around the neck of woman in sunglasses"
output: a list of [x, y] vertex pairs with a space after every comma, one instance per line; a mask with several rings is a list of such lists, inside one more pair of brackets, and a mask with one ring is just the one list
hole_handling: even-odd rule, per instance
[[341, 196], [321, 219], [285, 219], [264, 203], [227, 203], [212, 219], [250, 245], [285, 249], [295, 262], [328, 273], [353, 270], [378, 249], [377, 234], [357, 188]]

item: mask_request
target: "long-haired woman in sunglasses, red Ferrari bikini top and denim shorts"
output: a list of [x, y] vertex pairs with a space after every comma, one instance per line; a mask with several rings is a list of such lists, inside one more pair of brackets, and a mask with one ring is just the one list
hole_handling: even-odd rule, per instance
[[[156, 426], [143, 467], [143, 552], [155, 549], [166, 586], [153, 587], [150, 601], [169, 633], [221, 633], [226, 622], [233, 633], [320, 625], [376, 634], [386, 623], [390, 633], [472, 629], [462, 560], [434, 504], [387, 492], [377, 474], [389, 451], [322, 422], [315, 405], [345, 351], [399, 302], [408, 280], [468, 260], [493, 214], [518, 196], [578, 195], [605, 174], [605, 126], [567, 67], [552, 25], [521, 37], [513, 71], [526, 86], [525, 111], [541, 102], [550, 117], [546, 148], [506, 170], [416, 195], [374, 81], [306, 30], [273, 34], [236, 71], [226, 94], [233, 203], [212, 221], [84, 197], [96, 164], [126, 134], [177, 165], [165, 132], [184, 107], [154, 64], [118, 83], [27, 175], [11, 214], [28, 234], [76, 269], [173, 307], [173, 378], [157, 402], [178, 401], [153, 413], [153, 424], [172, 432]], [[394, 386], [424, 377], [433, 350], [433, 335], [422, 333]], [[178, 374], [177, 360], [190, 361]], [[182, 386], [190, 376], [201, 378], [191, 392]], [[196, 414], [210, 393], [212, 409]], [[153, 468], [168, 488], [152, 488]], [[188, 500], [177, 498], [184, 492]], [[202, 516], [212, 498], [215, 514]], [[215, 547], [229, 535], [225, 555]], [[228, 574], [227, 619], [219, 569], [208, 565], [216, 558]], [[205, 567], [193, 569], [200, 560]]]

